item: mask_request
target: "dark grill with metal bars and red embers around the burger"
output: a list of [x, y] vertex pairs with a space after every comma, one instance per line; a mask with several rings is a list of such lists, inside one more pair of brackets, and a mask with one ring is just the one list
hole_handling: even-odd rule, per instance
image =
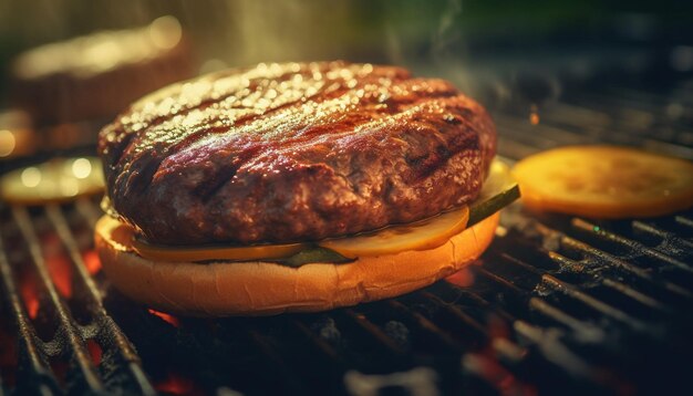
[[[693, 159], [692, 82], [608, 81], [540, 106], [537, 125], [529, 105], [496, 106], [500, 156], [606, 142]], [[154, 313], [110, 288], [91, 250], [99, 216], [96, 199], [2, 204], [0, 394], [693, 392], [693, 211], [600, 221], [515, 205], [479, 265], [449, 281], [224, 320]]]

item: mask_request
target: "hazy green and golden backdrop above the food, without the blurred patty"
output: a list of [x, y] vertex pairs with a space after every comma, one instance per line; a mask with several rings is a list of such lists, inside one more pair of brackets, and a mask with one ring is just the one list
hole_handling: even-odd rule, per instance
[[166, 14], [179, 20], [201, 71], [344, 59], [455, 66], [476, 77], [528, 69], [541, 75], [557, 66], [585, 74], [600, 59], [644, 67], [643, 55], [654, 52], [690, 70], [680, 46], [693, 44], [693, 4], [676, 0], [6, 0], [0, 60], [100, 30], [142, 27]]

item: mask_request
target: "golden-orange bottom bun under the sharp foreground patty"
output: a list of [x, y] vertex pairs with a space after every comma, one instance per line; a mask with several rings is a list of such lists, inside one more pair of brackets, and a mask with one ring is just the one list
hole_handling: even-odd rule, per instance
[[188, 316], [316, 312], [392, 298], [426, 286], [476, 260], [490, 244], [499, 213], [431, 250], [363, 257], [300, 268], [272, 262], [153, 262], [132, 248], [133, 229], [107, 216], [96, 249], [113, 284], [155, 310]]

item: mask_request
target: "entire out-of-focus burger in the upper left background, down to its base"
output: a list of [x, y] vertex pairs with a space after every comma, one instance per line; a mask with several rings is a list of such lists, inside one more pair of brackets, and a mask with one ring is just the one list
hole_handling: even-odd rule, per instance
[[195, 75], [195, 60], [170, 15], [23, 51], [7, 70], [2, 97], [12, 110], [0, 117], [0, 157], [93, 146], [131, 102]]

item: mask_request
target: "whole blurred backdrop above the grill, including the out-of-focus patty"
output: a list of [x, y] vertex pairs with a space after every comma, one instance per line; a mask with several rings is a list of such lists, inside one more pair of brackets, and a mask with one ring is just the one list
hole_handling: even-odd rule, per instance
[[604, 82], [662, 91], [690, 79], [693, 2], [3, 0], [0, 127], [14, 131], [12, 156], [53, 153], [93, 144], [127, 103], [173, 81], [334, 59], [401, 64], [531, 116]]

